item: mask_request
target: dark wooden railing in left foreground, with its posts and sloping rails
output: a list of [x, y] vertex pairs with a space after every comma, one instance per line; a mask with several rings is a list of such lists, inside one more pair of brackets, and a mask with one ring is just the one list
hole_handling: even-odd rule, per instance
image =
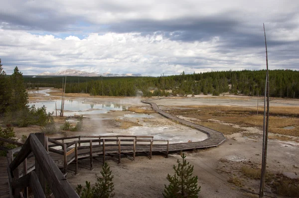
[[[45, 198], [47, 183], [56, 198], [79, 198], [45, 149], [47, 148], [46, 139], [43, 133], [31, 133], [21, 148], [8, 152], [8, 183], [13, 197], [28, 197], [27, 188], [30, 187], [34, 198]], [[15, 153], [17, 155], [13, 159]], [[33, 153], [35, 157], [35, 172], [27, 173], [26, 161], [30, 153]], [[18, 167], [21, 163], [23, 163], [24, 172], [19, 178]]]

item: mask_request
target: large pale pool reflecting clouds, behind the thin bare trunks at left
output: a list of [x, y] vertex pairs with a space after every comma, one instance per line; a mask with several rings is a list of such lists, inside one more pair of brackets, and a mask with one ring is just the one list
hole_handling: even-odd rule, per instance
[[[64, 101], [64, 114], [74, 115], [74, 114], [98, 114], [106, 113], [109, 110], [127, 110], [128, 106], [120, 104], [97, 104], [97, 103], [83, 103], [84, 101], [68, 99]], [[55, 111], [55, 103], [57, 109], [61, 108], [61, 100], [51, 100], [43, 102], [32, 102], [29, 106], [35, 105], [36, 108], [46, 106], [47, 111], [52, 113]], [[93, 110], [95, 109], [95, 110]]]

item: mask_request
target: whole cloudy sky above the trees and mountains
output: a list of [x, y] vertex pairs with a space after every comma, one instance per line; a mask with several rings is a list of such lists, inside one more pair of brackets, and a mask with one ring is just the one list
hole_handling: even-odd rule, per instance
[[0, 0], [7, 74], [299, 70], [298, 0]]

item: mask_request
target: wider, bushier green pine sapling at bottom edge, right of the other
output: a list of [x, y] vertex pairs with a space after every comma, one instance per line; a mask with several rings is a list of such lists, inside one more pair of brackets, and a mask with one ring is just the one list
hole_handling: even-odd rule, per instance
[[198, 177], [192, 176], [193, 166], [185, 160], [185, 154], [181, 157], [182, 163], [177, 160], [177, 166], [173, 165], [175, 174], [167, 175], [169, 185], [165, 185], [164, 198], [198, 198], [200, 191], [200, 186], [197, 186]]

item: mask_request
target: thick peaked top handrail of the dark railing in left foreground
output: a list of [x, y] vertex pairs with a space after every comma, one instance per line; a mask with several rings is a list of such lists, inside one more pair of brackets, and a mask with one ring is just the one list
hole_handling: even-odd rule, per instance
[[[56, 166], [53, 159], [47, 153], [44, 146], [33, 133], [29, 135], [18, 155], [9, 164], [11, 175], [13, 175], [13, 170], [15, 170], [31, 152], [34, 154], [35, 161], [38, 164], [38, 167], [41, 169], [43, 176], [47, 180], [47, 184], [55, 197], [79, 198], [79, 196], [67, 182], [66, 178], [63, 176], [59, 168]], [[34, 180], [35, 182], [38, 181], [37, 178], [35, 178]], [[30, 183], [32, 184], [31, 188], [36, 188], [36, 186], [38, 186], [38, 184], [34, 184], [33, 181], [31, 181]], [[36, 197], [38, 196], [36, 195]]]

